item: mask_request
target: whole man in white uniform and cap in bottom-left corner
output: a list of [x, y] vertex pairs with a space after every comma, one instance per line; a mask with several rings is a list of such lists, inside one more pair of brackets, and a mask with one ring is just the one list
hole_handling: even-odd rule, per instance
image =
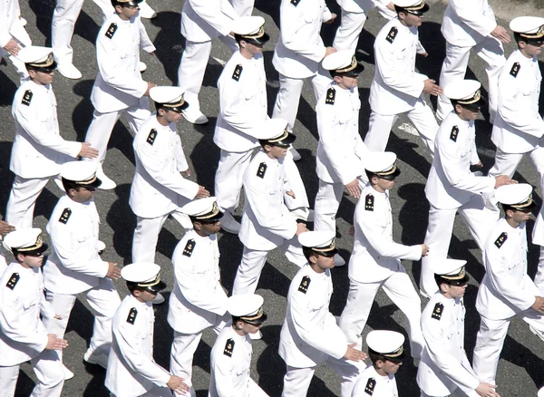
[[55, 350], [68, 346], [62, 336], [48, 334], [40, 319], [59, 321], [45, 301], [40, 267], [47, 244], [39, 228], [21, 228], [4, 239], [15, 262], [0, 276], [0, 394], [14, 396], [19, 368], [30, 360], [37, 382], [32, 396], [58, 397], [63, 391], [63, 363]]

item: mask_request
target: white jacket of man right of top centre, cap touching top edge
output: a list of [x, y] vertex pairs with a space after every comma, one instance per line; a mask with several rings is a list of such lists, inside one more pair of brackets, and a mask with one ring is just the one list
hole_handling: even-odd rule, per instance
[[375, 72], [370, 85], [370, 107], [384, 116], [412, 111], [423, 99], [428, 77], [415, 72], [415, 55], [424, 53], [417, 27], [404, 26], [393, 18], [374, 42]]

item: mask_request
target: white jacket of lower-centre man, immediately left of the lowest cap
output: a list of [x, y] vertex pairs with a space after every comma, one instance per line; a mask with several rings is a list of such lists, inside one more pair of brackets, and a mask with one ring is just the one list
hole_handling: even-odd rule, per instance
[[287, 295], [286, 319], [279, 336], [279, 355], [287, 365], [309, 368], [328, 356], [344, 357], [345, 334], [329, 312], [333, 295], [331, 271], [316, 273], [302, 266], [291, 281]]

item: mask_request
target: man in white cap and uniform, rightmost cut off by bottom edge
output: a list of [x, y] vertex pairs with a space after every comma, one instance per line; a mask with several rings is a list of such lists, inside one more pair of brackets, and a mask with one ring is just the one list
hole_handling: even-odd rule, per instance
[[463, 296], [471, 277], [465, 272], [466, 260], [443, 258], [434, 279], [439, 286], [422, 315], [425, 347], [417, 371], [422, 397], [462, 395], [500, 397], [497, 386], [480, 382], [464, 350]]

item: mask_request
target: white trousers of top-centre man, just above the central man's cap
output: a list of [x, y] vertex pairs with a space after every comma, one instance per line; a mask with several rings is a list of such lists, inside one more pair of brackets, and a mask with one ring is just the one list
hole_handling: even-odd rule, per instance
[[[308, 77], [314, 88], [316, 102], [326, 91], [326, 87], [331, 82], [330, 75], [325, 69], [319, 66], [319, 71], [315, 76]], [[295, 127], [296, 113], [298, 112], [298, 103], [302, 93], [302, 86], [305, 79], [292, 79], [282, 73], [279, 73], [279, 90], [277, 91], [276, 104], [272, 112], [272, 118], [287, 120], [287, 131], [292, 132]]]

